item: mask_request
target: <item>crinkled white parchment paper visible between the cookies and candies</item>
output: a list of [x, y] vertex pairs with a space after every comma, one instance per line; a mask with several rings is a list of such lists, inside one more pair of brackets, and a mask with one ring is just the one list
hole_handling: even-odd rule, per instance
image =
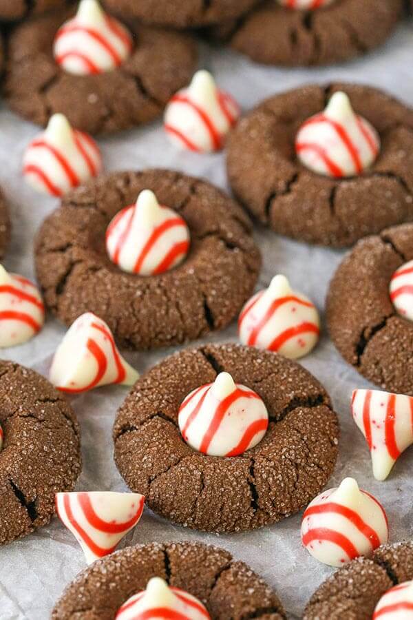
[[[200, 66], [215, 74], [244, 110], [270, 96], [308, 82], [348, 80], [385, 88], [413, 105], [413, 24], [403, 23], [385, 47], [359, 61], [322, 70], [280, 70], [254, 65], [241, 56], [206, 46]], [[10, 271], [34, 277], [33, 237], [43, 218], [57, 206], [56, 200], [34, 194], [21, 180], [21, 156], [28, 141], [39, 130], [8, 110], [0, 110], [0, 184], [12, 211], [13, 236], [5, 266]], [[224, 156], [180, 154], [169, 143], [160, 121], [142, 129], [99, 141], [105, 167], [143, 169], [171, 167], [187, 174], [204, 176], [227, 187]], [[276, 272], [285, 273], [293, 286], [315, 301], [324, 319], [328, 282], [343, 252], [310, 247], [266, 231], [255, 231], [264, 256], [260, 285], [267, 285]], [[49, 316], [43, 331], [21, 347], [0, 351], [11, 359], [47, 375], [52, 354], [65, 328]], [[236, 340], [235, 324], [213, 335], [210, 341]], [[126, 357], [141, 373], [171, 353], [131, 353]], [[350, 417], [352, 389], [368, 383], [341, 360], [324, 336], [317, 349], [304, 360], [330, 392], [341, 421], [339, 461], [329, 486], [346, 475], [357, 478], [362, 488], [374, 493], [388, 511], [391, 539], [412, 538], [413, 533], [413, 448], [397, 462], [387, 482], [375, 482], [366, 442]], [[105, 387], [72, 399], [82, 431], [83, 473], [78, 490], [126, 490], [112, 457], [112, 424], [116, 409], [127, 394], [118, 386]], [[277, 589], [288, 617], [299, 618], [315, 588], [332, 569], [319, 564], [301, 548], [301, 515], [251, 533], [204, 535], [175, 526], [145, 513], [133, 535], [120, 546], [149, 541], [198, 540], [218, 544], [235, 558], [246, 561]], [[58, 519], [34, 535], [0, 549], [0, 619], [45, 620], [63, 588], [85, 567], [83, 553]]]

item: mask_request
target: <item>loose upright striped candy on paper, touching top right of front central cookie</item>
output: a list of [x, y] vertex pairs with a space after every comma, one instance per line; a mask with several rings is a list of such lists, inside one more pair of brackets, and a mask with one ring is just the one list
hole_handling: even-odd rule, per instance
[[275, 276], [241, 311], [238, 333], [243, 344], [277, 351], [286, 358], [306, 355], [319, 340], [320, 319], [315, 305], [295, 293], [284, 276]]

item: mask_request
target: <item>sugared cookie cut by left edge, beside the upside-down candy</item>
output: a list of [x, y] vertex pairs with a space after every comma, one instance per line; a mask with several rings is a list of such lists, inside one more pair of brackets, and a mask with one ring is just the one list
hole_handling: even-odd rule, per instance
[[54, 496], [71, 491], [81, 472], [72, 408], [32, 370], [0, 360], [0, 544], [47, 524]]

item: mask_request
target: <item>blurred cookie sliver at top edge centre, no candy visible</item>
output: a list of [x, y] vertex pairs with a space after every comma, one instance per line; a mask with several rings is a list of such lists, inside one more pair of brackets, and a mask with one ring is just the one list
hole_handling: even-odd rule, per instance
[[173, 28], [194, 28], [225, 19], [236, 19], [258, 0], [105, 0], [105, 5], [125, 18]]

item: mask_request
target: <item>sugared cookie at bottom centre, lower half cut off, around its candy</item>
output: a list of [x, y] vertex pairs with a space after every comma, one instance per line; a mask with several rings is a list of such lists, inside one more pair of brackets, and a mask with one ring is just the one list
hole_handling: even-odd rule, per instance
[[195, 542], [129, 547], [83, 570], [63, 592], [52, 619], [112, 620], [151, 577], [195, 596], [213, 620], [283, 620], [279, 598], [246, 564], [223, 549]]

